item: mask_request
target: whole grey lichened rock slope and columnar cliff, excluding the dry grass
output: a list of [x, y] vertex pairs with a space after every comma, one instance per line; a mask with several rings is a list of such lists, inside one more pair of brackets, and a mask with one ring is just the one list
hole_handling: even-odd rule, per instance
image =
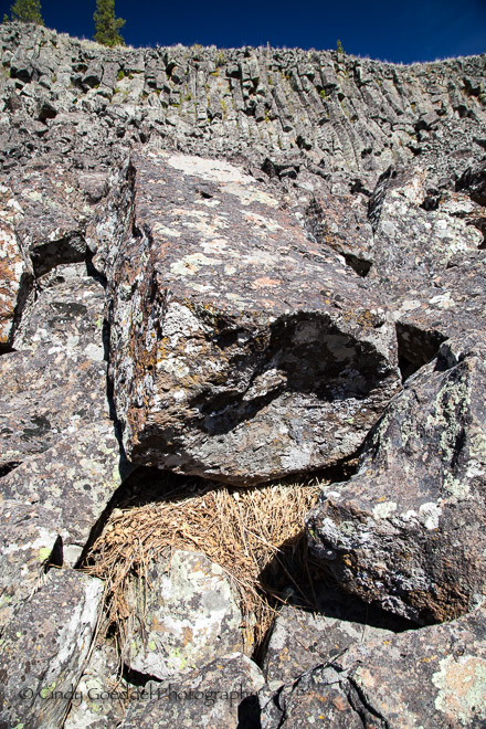
[[[1, 726], [482, 726], [486, 56], [0, 43]], [[261, 669], [184, 498], [309, 474]]]

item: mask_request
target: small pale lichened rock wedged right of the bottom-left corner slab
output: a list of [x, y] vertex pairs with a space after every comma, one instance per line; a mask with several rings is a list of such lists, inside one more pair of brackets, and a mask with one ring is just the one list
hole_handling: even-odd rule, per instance
[[[118, 676], [116, 648], [97, 646], [76, 686], [63, 729], [106, 729], [125, 717], [127, 699], [134, 687]], [[136, 690], [136, 689], [135, 689]]]

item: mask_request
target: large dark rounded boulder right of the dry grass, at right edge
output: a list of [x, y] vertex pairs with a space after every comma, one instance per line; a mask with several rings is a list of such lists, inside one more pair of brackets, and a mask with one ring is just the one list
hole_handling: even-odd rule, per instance
[[444, 342], [307, 520], [347, 590], [419, 623], [462, 615], [486, 588], [485, 351]]

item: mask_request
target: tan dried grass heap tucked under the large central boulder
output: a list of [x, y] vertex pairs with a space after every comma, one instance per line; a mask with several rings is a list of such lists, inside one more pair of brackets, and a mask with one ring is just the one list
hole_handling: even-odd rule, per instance
[[[178, 486], [156, 501], [115, 509], [85, 568], [105, 580], [102, 636], [115, 627], [123, 655], [127, 621], [134, 619], [127, 602], [131, 575], [147, 580], [150, 560], [184, 549], [203, 552], [225, 570], [241, 596], [246, 642], [258, 646], [275, 605], [285, 601], [272, 574], [279, 574], [297, 594], [304, 592], [302, 578], [308, 575], [304, 517], [319, 492], [317, 482], [245, 489], [209, 484], [190, 496]], [[305, 596], [299, 595], [303, 601]]]

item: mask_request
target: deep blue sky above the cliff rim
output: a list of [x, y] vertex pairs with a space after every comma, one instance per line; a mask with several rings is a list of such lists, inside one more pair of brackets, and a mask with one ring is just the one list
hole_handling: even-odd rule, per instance
[[[0, 0], [1, 15], [13, 0]], [[49, 28], [92, 38], [96, 0], [41, 0]], [[115, 0], [127, 44], [335, 49], [411, 63], [486, 53], [486, 0]]]

